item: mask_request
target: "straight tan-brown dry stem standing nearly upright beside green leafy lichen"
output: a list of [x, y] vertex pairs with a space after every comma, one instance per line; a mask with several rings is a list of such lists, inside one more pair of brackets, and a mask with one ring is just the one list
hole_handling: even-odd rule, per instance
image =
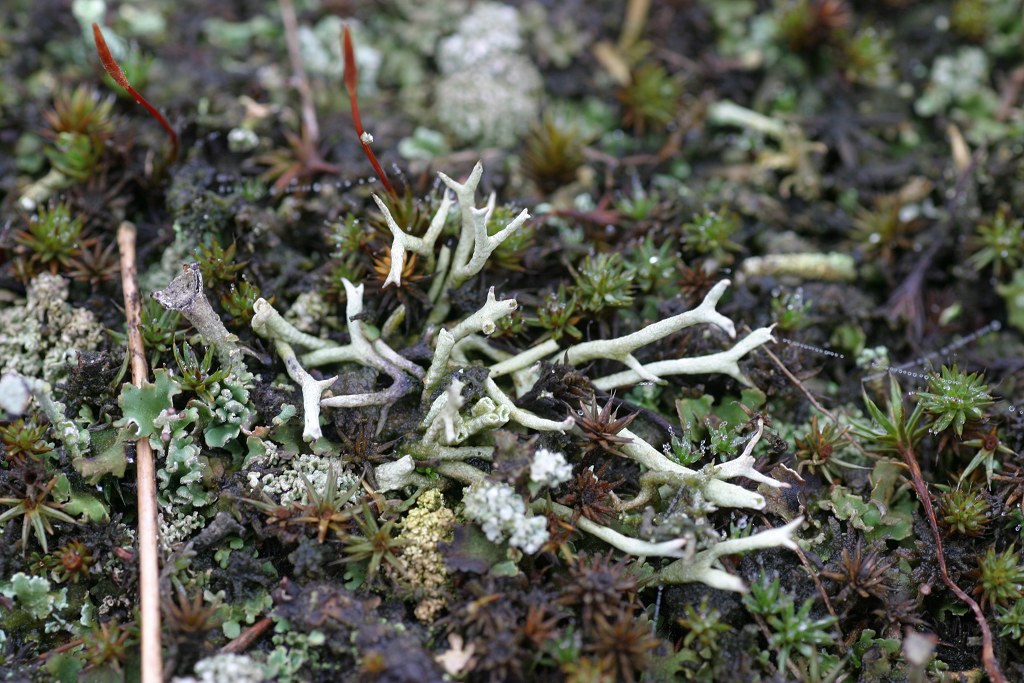
[[[142, 301], [138, 293], [135, 261], [135, 226], [124, 221], [118, 227], [121, 252], [121, 286], [124, 290], [125, 317], [128, 321], [128, 355], [131, 358], [132, 384], [141, 386], [147, 370], [145, 347], [139, 333]], [[163, 683], [164, 659], [160, 643], [160, 562], [157, 543], [157, 476], [148, 438], [135, 442], [138, 495], [138, 583], [139, 631], [141, 635], [142, 683]]]

